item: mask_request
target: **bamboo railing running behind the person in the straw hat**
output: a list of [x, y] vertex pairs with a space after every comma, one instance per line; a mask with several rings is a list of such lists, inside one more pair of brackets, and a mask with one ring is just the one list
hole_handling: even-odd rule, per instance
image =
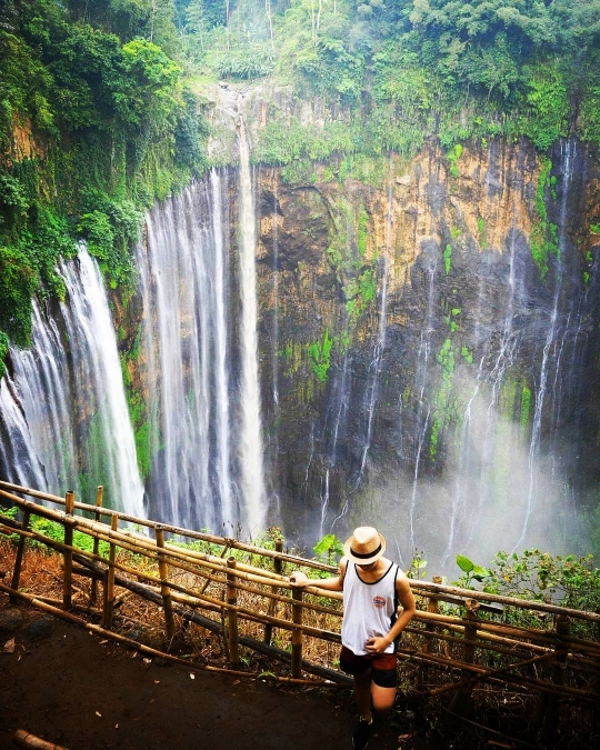
[[[18, 537], [11, 583], [0, 583], [0, 591], [13, 601], [28, 601], [104, 638], [197, 669], [257, 678], [256, 672], [240, 669], [240, 649], [251, 649], [283, 663], [282, 673], [269, 673], [280, 681], [331, 688], [351, 684], [350, 678], [332, 666], [304, 658], [309, 642], [340, 642], [341, 593], [319, 589], [318, 579], [309, 588], [297, 589], [284, 574], [286, 567], [329, 574], [337, 568], [287, 553], [282, 543], [268, 550], [103, 508], [102, 488], [98, 488], [94, 503], [88, 504], [77, 502], [72, 492], [60, 498], [0, 481], [0, 503], [20, 509], [20, 521], [16, 521], [0, 508], [0, 534]], [[32, 516], [61, 524], [63, 541], [32, 529]], [[74, 531], [91, 538], [89, 549], [73, 544]], [[177, 538], [206, 550], [182, 547]], [[44, 600], [19, 590], [28, 540], [63, 557], [62, 600]], [[101, 553], [102, 542], [108, 551]], [[88, 604], [73, 597], [73, 578], [80, 576], [91, 578]], [[574, 701], [591, 710], [598, 706], [599, 613], [443, 586], [440, 580], [410, 582], [419, 609], [404, 630], [398, 657], [401, 664], [418, 666], [417, 697], [452, 693], [450, 709], [461, 714], [482, 682], [533, 690], [538, 699], [532, 721], [543, 724], [546, 732], [553, 731], [561, 703]], [[99, 586], [101, 607], [97, 606]], [[119, 633], [116, 620], [129, 596], [160, 608], [166, 643], [172, 641], [179, 623], [194, 623], [216, 633], [223, 640], [228, 668], [190, 661], [170, 653], [168, 647], [151, 648]], [[541, 616], [546, 626], [518, 624], [523, 618], [517, 614], [526, 612]], [[578, 621], [589, 623], [589, 638], [571, 634], [571, 626]]]

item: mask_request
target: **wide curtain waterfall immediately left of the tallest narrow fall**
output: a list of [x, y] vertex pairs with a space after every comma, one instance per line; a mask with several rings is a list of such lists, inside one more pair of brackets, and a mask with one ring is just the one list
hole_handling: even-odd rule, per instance
[[147, 217], [137, 249], [149, 387], [151, 513], [229, 533], [231, 478], [228, 281], [221, 178], [188, 187]]

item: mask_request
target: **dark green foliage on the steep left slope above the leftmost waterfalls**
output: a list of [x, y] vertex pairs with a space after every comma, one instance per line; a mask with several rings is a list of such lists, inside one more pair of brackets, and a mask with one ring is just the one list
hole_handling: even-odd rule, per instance
[[[86, 240], [133, 282], [143, 210], [206, 164], [171, 2], [7, 0], [0, 8], [0, 331], [27, 347], [32, 294]], [[151, 31], [150, 31], [151, 29]], [[4, 347], [6, 349], [6, 347]], [[3, 353], [0, 351], [0, 353]]]

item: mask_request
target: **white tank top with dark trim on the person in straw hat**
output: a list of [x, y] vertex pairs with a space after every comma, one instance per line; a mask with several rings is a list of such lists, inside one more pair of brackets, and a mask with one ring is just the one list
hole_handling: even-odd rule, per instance
[[[357, 656], [364, 656], [364, 643], [369, 638], [387, 636], [396, 621], [396, 577], [398, 566], [390, 562], [383, 576], [373, 583], [361, 581], [357, 567], [348, 562], [343, 577], [342, 644]], [[386, 653], [393, 653], [390, 643]]]

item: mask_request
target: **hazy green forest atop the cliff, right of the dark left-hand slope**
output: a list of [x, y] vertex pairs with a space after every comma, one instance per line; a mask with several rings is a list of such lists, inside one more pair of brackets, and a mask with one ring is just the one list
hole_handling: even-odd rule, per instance
[[[271, 74], [326, 103], [321, 127], [289, 131], [273, 103], [258, 160], [412, 154], [436, 136], [457, 177], [467, 139], [600, 142], [598, 0], [231, 0], [227, 17], [216, 0], [176, 4], [197, 17], [184, 38], [207, 74]], [[226, 48], [246, 64], [224, 70]]]

